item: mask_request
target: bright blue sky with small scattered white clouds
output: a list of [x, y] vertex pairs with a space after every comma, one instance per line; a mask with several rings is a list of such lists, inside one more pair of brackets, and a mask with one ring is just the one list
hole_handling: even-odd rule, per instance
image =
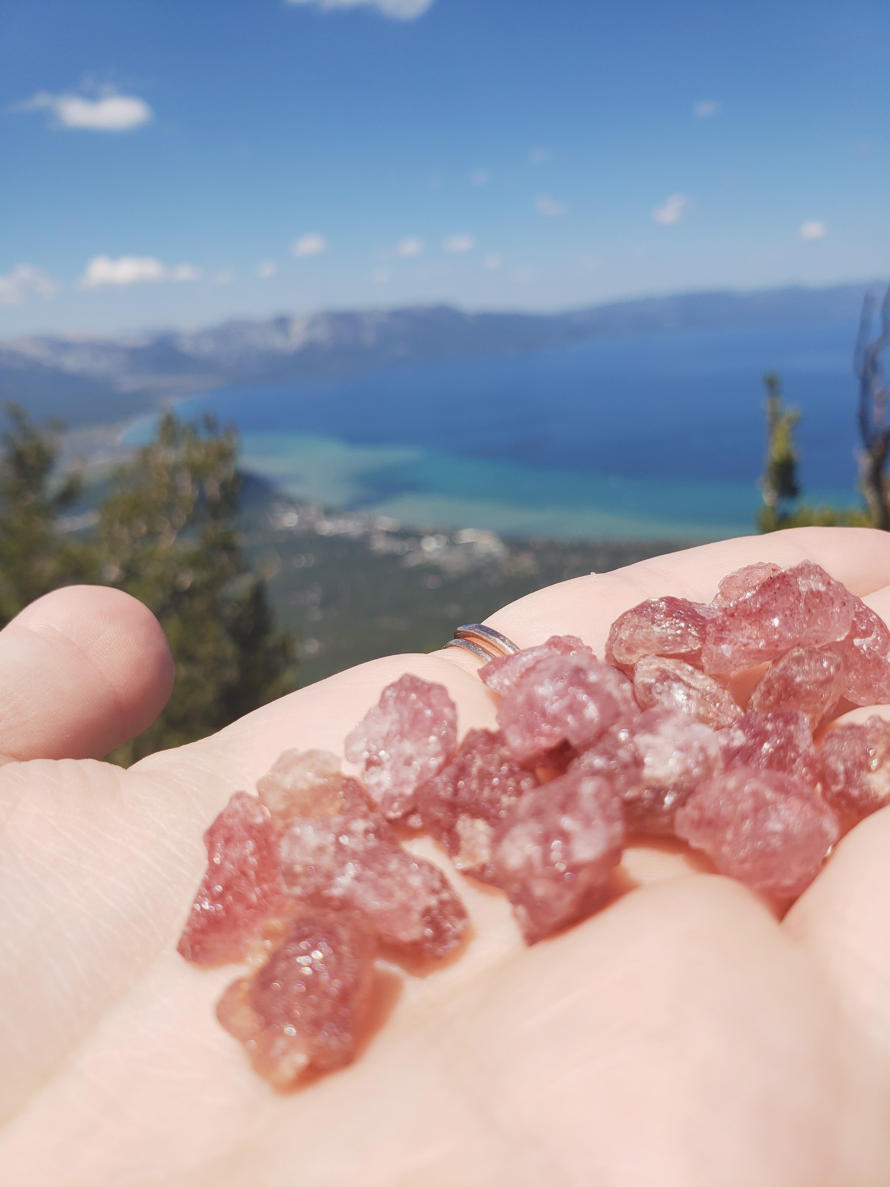
[[885, 0], [0, 21], [0, 336], [890, 272]]

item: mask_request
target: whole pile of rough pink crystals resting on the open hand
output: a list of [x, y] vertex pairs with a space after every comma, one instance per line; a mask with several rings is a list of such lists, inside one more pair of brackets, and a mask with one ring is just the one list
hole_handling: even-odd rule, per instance
[[[217, 1016], [278, 1087], [354, 1056], [379, 954], [440, 959], [465, 934], [451, 883], [394, 824], [502, 889], [534, 944], [609, 897], [628, 834], [676, 837], [792, 899], [843, 831], [890, 805], [890, 724], [814, 741], [845, 702], [890, 703], [890, 630], [810, 561], [749, 565], [708, 604], [643, 602], [612, 624], [604, 662], [553, 636], [479, 675], [497, 730], [458, 748], [446, 690], [405, 675], [345, 740], [360, 777], [286, 751], [205, 834], [179, 951], [253, 959]], [[732, 690], [752, 686], [739, 704]]]

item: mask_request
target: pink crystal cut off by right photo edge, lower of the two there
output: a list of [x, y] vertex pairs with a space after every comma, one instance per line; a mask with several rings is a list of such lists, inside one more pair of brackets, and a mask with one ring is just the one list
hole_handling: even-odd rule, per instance
[[828, 730], [820, 757], [822, 794], [846, 829], [890, 804], [890, 723], [883, 718]]

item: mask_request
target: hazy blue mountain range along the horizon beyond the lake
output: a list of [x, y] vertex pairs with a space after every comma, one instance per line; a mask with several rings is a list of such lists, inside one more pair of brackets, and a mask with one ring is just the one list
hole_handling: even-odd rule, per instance
[[0, 342], [0, 399], [69, 425], [120, 420], [187, 392], [370, 369], [398, 358], [522, 354], [597, 338], [820, 324], [858, 315], [864, 284], [705, 292], [567, 313], [464, 313], [446, 305], [227, 322], [141, 337]]

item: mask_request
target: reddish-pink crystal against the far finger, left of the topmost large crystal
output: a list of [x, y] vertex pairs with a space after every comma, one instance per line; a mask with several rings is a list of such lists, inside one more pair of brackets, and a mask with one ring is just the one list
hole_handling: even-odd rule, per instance
[[631, 672], [643, 655], [670, 655], [700, 667], [708, 608], [682, 597], [653, 597], [611, 626], [605, 658]]

